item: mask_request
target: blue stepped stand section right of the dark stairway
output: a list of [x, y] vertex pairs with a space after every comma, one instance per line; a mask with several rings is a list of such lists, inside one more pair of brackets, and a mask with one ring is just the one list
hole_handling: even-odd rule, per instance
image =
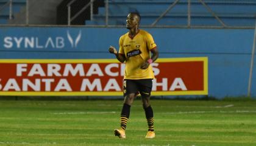
[[[124, 25], [127, 13], [139, 12], [142, 17], [141, 25], [151, 25], [175, 0], [112, 0], [108, 4], [108, 24]], [[205, 0], [205, 4], [227, 26], [254, 26], [256, 1], [242, 0]], [[157, 23], [159, 26], [187, 25], [188, 1], [180, 0]], [[99, 8], [94, 19], [86, 24], [105, 25], [105, 7]], [[191, 0], [192, 26], [221, 26], [221, 23], [207, 10], [201, 1]]]

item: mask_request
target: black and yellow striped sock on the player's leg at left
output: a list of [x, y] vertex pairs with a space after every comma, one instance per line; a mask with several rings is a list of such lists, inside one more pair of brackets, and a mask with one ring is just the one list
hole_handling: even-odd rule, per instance
[[121, 112], [121, 117], [120, 117], [120, 124], [123, 130], [126, 130], [126, 125], [127, 125], [129, 116], [130, 116], [130, 105], [127, 105], [126, 103], [124, 103], [123, 109]]

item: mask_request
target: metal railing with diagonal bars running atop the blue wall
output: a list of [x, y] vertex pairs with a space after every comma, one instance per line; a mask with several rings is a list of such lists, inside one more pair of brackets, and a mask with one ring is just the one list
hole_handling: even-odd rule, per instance
[[[71, 26], [72, 21], [74, 21], [74, 19], [76, 19], [82, 12], [84, 12], [84, 10], [88, 9], [88, 7], [90, 7], [90, 19], [94, 20], [94, 15], [93, 15], [93, 7], [94, 7], [94, 2], [96, 0], [90, 0], [90, 2], [88, 2], [88, 4], [85, 4], [84, 7], [82, 7], [81, 10], [79, 10], [79, 12], [71, 14], [71, 10], [72, 10], [72, 4], [74, 4], [74, 2], [76, 2], [77, 0], [72, 0], [70, 2], [68, 2], [68, 4], [65, 6], [68, 8], [68, 26]], [[31, 4], [29, 4], [30, 0], [26, 0], [26, 26], [30, 25], [29, 24], [29, 9], [30, 7], [32, 7]], [[112, 2], [111, 4], [113, 4], [113, 2], [115, 1], [110, 1], [110, 0], [105, 0], [105, 24], [99, 26], [99, 25], [90, 25], [90, 27], [124, 27], [121, 25], [111, 25], [110, 24], [110, 14], [109, 14], [109, 3]], [[186, 22], [184, 23], [184, 25], [179, 24], [179, 25], [168, 25], [165, 24], [163, 25], [159, 25], [157, 24], [158, 21], [160, 21], [160, 19], [164, 18], [169, 11], [171, 11], [177, 4], [179, 4], [179, 2], [182, 2], [182, 4], [186, 4], [187, 3], [187, 24]], [[212, 16], [213, 19], [216, 19], [219, 24], [221, 25], [207, 25], [207, 26], [195, 26], [191, 24], [191, 19], [194, 16], [193, 13], [191, 13], [191, 5], [197, 2], [198, 4], [202, 4], [206, 10], [208, 10], [208, 13], [210, 13], [210, 15], [205, 15], [205, 16]], [[12, 3], [13, 0], [10, 0], [8, 2], [6, 2], [1, 8], [0, 10], [4, 9], [5, 7], [7, 7], [7, 5], [9, 5], [10, 7], [10, 14], [9, 14], [9, 19], [13, 18], [13, 12], [12, 12]], [[230, 2], [229, 2], [230, 3]], [[166, 3], [168, 4], [168, 3]], [[218, 4], [218, 3], [217, 3]], [[231, 3], [230, 3], [231, 4]], [[237, 2], [235, 4], [238, 4]], [[242, 2], [241, 2], [242, 4]], [[244, 3], [247, 4], [247, 3]], [[249, 4], [249, 3], [248, 3]], [[250, 4], [256, 4], [256, 2], [251, 2]], [[75, 8], [74, 8], [75, 9]], [[72, 16], [71, 16], [72, 15]], [[185, 14], [186, 15], [186, 14]], [[184, 16], [185, 16], [184, 15]], [[224, 15], [221, 15], [221, 17]], [[225, 15], [226, 16], [226, 15]], [[229, 15], [228, 15], [229, 16]], [[236, 15], [235, 15], [236, 16]], [[238, 16], [238, 15], [237, 15]], [[239, 15], [241, 17], [241, 15]], [[245, 17], [247, 17], [247, 15], [243, 15]], [[242, 17], [243, 17], [242, 16]], [[250, 18], [252, 18], [252, 15], [250, 15]], [[126, 16], [124, 16], [124, 21], [126, 19]], [[152, 22], [152, 24], [148, 24], [146, 26], [143, 27], [169, 27], [169, 28], [216, 28], [216, 29], [222, 29], [222, 28], [226, 28], [226, 29], [254, 29], [254, 26], [229, 26], [227, 24], [224, 23], [224, 21], [221, 20], [220, 16], [218, 16], [206, 3], [204, 0], [187, 0], [187, 1], [181, 1], [181, 0], [173, 0], [172, 2], [169, 2], [169, 7], [168, 9], [164, 10], [163, 13], [161, 13], [154, 22]]]

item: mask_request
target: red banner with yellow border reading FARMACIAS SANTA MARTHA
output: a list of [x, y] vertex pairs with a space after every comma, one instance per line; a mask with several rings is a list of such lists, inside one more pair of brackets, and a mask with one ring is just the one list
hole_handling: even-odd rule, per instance
[[[152, 96], [208, 94], [208, 60], [159, 58]], [[122, 96], [125, 63], [98, 60], [0, 60], [0, 96]]]

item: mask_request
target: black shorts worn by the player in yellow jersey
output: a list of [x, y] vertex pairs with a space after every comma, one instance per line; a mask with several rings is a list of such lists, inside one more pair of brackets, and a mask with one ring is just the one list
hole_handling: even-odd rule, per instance
[[140, 79], [140, 80], [129, 80], [124, 79], [123, 82], [123, 92], [124, 97], [126, 97], [128, 94], [140, 93], [141, 96], [150, 96], [152, 91], [152, 84], [153, 79], [147, 78], [147, 79]]

